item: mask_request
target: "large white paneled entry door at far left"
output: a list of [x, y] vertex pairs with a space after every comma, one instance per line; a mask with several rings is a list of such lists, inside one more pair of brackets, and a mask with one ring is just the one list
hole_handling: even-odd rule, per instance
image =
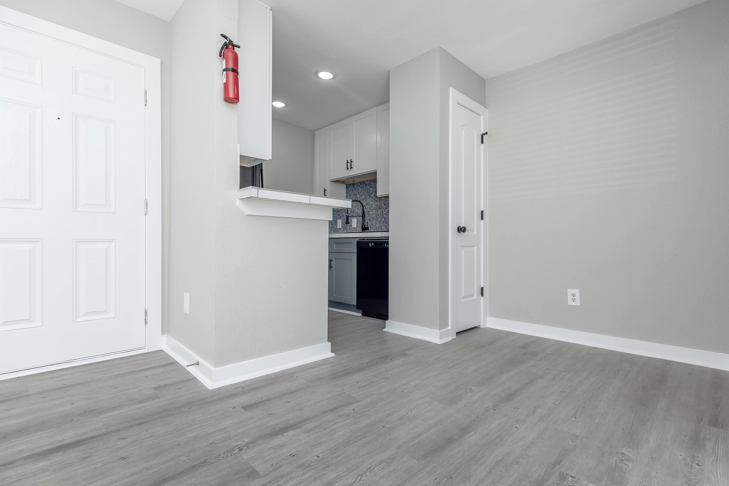
[[144, 348], [144, 68], [0, 26], [0, 373]]

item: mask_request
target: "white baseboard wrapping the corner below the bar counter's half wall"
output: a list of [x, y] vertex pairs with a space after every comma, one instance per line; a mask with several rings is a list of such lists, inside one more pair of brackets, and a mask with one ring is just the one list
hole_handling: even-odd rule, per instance
[[182, 365], [200, 361], [200, 364], [187, 367], [187, 371], [211, 389], [334, 356], [332, 354], [332, 345], [329, 342], [322, 342], [321, 344], [308, 346], [308, 348], [299, 348], [285, 353], [272, 354], [271, 356], [249, 359], [248, 361], [215, 368], [205, 360], [198, 358], [195, 353], [192, 353], [170, 336], [165, 335], [162, 349]]

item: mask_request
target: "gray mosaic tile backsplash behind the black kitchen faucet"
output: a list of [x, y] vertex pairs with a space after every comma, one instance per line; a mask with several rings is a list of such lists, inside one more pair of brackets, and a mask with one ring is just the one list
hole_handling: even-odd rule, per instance
[[[371, 231], [390, 230], [390, 198], [377, 197], [377, 179], [371, 181], [355, 182], [347, 184], [347, 199], [357, 199], [364, 205], [364, 222]], [[330, 233], [358, 233], [362, 232], [362, 208], [359, 203], [352, 203], [349, 210], [349, 223], [346, 224], [346, 209], [335, 209], [332, 211], [332, 221], [329, 222]], [[357, 219], [357, 227], [351, 225], [352, 216]], [[337, 220], [342, 220], [342, 227], [337, 227]]]

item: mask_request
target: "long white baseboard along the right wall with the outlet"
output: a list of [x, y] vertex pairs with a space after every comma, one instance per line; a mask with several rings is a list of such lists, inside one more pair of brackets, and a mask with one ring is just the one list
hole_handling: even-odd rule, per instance
[[575, 344], [593, 346], [593, 348], [609, 349], [622, 353], [668, 359], [681, 363], [696, 364], [700, 367], [729, 371], [729, 354], [691, 348], [679, 348], [678, 346], [658, 344], [656, 342], [636, 341], [625, 337], [573, 331], [572, 329], [562, 329], [561, 327], [542, 326], [541, 324], [529, 324], [494, 317], [488, 318], [486, 327], [529, 334], [530, 336], [547, 337], [558, 341], [574, 342]]

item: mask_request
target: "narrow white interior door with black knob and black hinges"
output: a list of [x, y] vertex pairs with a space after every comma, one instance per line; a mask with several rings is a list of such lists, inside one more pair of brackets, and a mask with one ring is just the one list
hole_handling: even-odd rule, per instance
[[451, 326], [456, 332], [483, 322], [485, 114], [486, 109], [451, 90]]

